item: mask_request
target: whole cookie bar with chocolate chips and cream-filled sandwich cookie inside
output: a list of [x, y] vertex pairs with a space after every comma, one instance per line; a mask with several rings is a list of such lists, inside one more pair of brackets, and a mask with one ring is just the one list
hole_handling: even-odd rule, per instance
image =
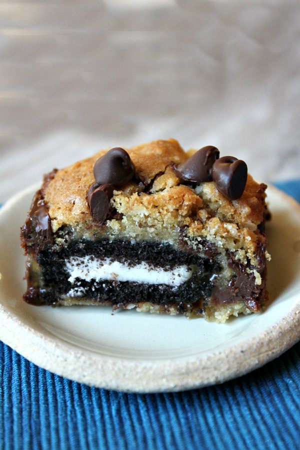
[[265, 184], [174, 139], [103, 150], [44, 177], [21, 228], [31, 304], [224, 322], [267, 303]]

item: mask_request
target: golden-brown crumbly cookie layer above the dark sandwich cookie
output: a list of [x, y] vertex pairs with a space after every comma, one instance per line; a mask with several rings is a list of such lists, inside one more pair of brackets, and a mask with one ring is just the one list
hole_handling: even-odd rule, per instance
[[[93, 165], [105, 151], [58, 170], [44, 187], [53, 231], [63, 225], [96, 226], [86, 196], [95, 181]], [[265, 210], [265, 185], [248, 175], [241, 197], [230, 200], [217, 190], [213, 181], [196, 186], [181, 183], [172, 162], [182, 163], [192, 152], [185, 153], [175, 139], [156, 140], [126, 151], [135, 165], [135, 178], [113, 191], [110, 204], [117, 213], [103, 225], [106, 232], [163, 239], [184, 227], [189, 235], [212, 239], [221, 233], [225, 240], [229, 236], [234, 242], [236, 230], [244, 229], [250, 236], [245, 236], [245, 242], [254, 243]]]

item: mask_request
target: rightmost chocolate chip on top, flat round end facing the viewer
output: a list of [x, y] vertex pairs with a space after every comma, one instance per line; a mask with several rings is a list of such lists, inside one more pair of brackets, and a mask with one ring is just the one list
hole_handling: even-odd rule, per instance
[[213, 164], [211, 175], [217, 190], [229, 200], [236, 200], [246, 185], [247, 165], [241, 159], [223, 156]]

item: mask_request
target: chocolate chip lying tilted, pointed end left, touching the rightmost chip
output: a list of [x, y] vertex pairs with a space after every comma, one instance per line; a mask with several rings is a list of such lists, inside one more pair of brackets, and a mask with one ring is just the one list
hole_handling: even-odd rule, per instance
[[219, 150], [213, 145], [207, 145], [196, 151], [187, 161], [174, 167], [176, 175], [184, 180], [196, 183], [211, 181], [211, 169], [219, 157]]

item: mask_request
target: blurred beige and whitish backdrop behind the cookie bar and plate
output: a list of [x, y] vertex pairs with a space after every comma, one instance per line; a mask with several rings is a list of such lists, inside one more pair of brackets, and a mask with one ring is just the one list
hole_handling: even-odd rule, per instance
[[9, 1], [0, 20], [0, 201], [170, 136], [300, 176], [300, 1]]

